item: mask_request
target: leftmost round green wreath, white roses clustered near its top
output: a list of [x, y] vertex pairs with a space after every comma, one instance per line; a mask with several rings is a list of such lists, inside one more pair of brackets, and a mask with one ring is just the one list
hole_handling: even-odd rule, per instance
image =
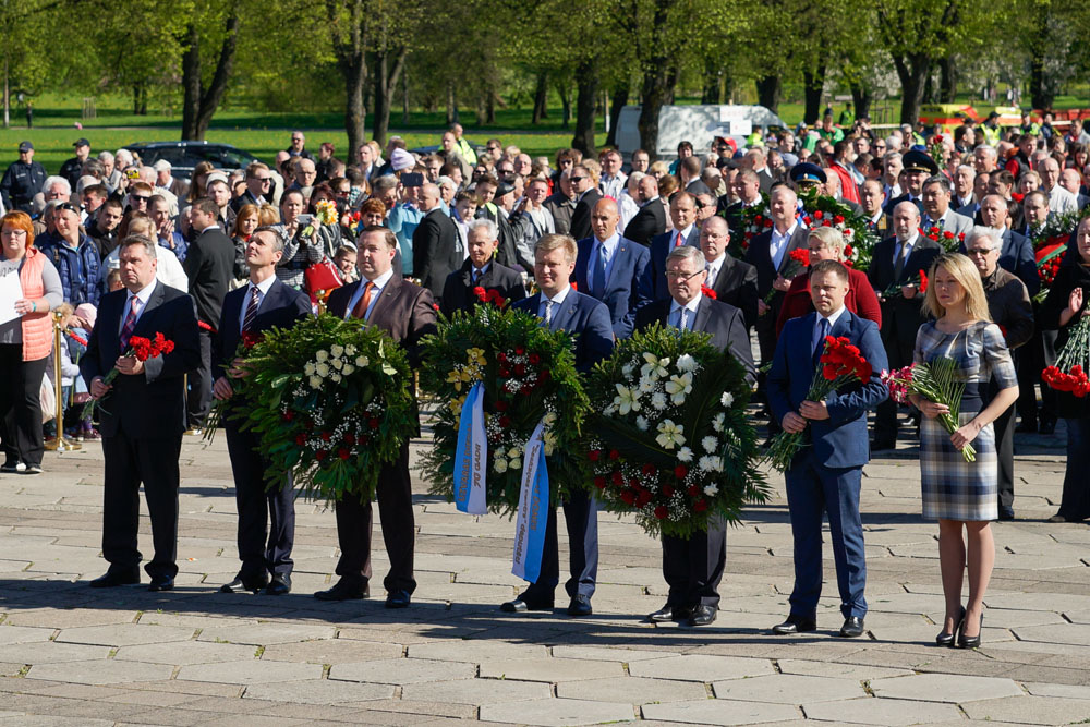
[[419, 427], [404, 351], [360, 320], [325, 313], [271, 329], [242, 368], [234, 386], [253, 405], [231, 415], [261, 438], [270, 486], [290, 472], [307, 496], [370, 499]]

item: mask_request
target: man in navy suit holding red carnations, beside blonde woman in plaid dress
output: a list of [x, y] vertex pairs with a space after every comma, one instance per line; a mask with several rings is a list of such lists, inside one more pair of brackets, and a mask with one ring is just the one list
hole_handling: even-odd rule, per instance
[[[784, 326], [768, 372], [768, 403], [785, 432], [808, 432], [807, 446], [795, 457], [785, 477], [787, 506], [795, 540], [795, 589], [787, 620], [774, 633], [802, 633], [818, 628], [818, 599], [822, 582], [822, 510], [836, 564], [844, 626], [840, 635], [860, 637], [867, 601], [867, 561], [859, 517], [859, 488], [863, 465], [870, 460], [867, 412], [888, 396], [879, 372], [887, 367], [885, 349], [873, 322], [844, 306], [848, 268], [836, 260], [821, 260], [810, 268], [810, 295], [814, 312], [791, 318]], [[852, 383], [824, 401], [809, 401], [807, 393], [825, 337], [846, 337], [859, 347], [873, 374]]]

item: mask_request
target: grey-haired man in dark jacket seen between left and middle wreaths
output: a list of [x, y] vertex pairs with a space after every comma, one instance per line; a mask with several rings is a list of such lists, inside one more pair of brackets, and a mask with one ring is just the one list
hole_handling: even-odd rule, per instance
[[472, 312], [480, 302], [473, 293], [474, 288], [499, 291], [512, 303], [526, 296], [522, 276], [495, 260], [498, 244], [499, 230], [491, 219], [477, 218], [469, 223], [467, 245], [470, 255], [461, 269], [447, 276], [440, 303], [443, 315], [449, 316], [455, 311]]

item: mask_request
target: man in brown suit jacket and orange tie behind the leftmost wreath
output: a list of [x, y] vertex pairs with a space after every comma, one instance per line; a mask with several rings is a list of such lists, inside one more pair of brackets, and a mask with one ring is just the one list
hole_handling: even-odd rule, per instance
[[[435, 307], [432, 293], [393, 275], [393, 252], [398, 239], [384, 227], [365, 228], [360, 235], [360, 280], [338, 288], [329, 296], [329, 312], [336, 316], [362, 318], [367, 326], [390, 335], [409, 355], [409, 365], [420, 366], [421, 340], [435, 332]], [[419, 433], [417, 433], [419, 434]], [[413, 578], [412, 487], [409, 480], [409, 441], [401, 445], [398, 458], [383, 465], [378, 474], [378, 512], [383, 520], [383, 540], [390, 558], [390, 572], [383, 581], [387, 608], [405, 608], [416, 589]], [[314, 597], [320, 601], [365, 598], [371, 593], [370, 499], [346, 495], [337, 502], [337, 542], [341, 556], [337, 561], [340, 580]]]

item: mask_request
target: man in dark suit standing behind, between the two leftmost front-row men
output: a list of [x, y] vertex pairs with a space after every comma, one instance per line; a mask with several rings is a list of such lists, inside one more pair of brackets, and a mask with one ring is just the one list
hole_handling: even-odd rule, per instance
[[197, 233], [185, 253], [185, 276], [197, 306], [201, 328], [201, 365], [190, 373], [186, 409], [189, 428], [199, 433], [211, 403], [211, 352], [223, 296], [234, 279], [234, 243], [217, 222], [219, 207], [211, 199], [197, 199], [190, 207], [190, 227]]

